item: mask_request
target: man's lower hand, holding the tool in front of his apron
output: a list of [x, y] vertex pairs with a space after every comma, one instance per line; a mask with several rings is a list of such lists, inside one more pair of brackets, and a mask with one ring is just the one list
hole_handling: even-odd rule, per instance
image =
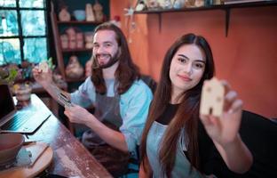
[[91, 122], [93, 115], [87, 109], [73, 104], [72, 107], [65, 107], [65, 115], [69, 118], [70, 122], [86, 125]]

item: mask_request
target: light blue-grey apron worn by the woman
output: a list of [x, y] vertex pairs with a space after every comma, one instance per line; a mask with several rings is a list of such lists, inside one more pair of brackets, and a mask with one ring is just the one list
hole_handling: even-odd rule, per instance
[[[152, 170], [153, 170], [154, 178], [166, 177], [165, 175], [162, 174], [162, 165], [160, 164], [160, 161], [159, 161], [159, 148], [161, 148], [162, 138], [166, 128], [167, 128], [167, 125], [162, 125], [154, 121], [147, 135], [146, 153], [147, 153], [147, 158], [149, 160], [150, 166], [152, 167]], [[181, 135], [184, 135], [184, 134], [181, 134]], [[199, 173], [195, 169], [193, 169], [191, 174], [189, 174], [191, 164], [187, 160], [184, 150], [186, 150], [185, 139], [183, 136], [180, 136], [178, 147], [177, 147], [175, 166], [173, 167], [173, 170], [171, 172], [171, 177], [172, 178], [204, 177], [201, 173]]]

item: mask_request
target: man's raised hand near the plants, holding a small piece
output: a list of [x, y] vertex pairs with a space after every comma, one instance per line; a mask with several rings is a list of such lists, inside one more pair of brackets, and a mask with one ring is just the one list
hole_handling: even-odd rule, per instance
[[52, 73], [51, 69], [48, 69], [47, 72], [43, 72], [41, 69], [36, 66], [32, 69], [33, 76], [36, 82], [40, 85], [47, 86], [52, 83]]

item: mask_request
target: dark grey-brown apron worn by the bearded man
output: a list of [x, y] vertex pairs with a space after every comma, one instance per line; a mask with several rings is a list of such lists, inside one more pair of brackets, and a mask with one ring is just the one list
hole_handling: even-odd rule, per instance
[[[120, 96], [118, 94], [115, 94], [115, 97], [96, 94], [94, 116], [103, 124], [116, 131], [119, 131], [119, 127], [123, 125], [119, 102]], [[130, 158], [128, 152], [126, 153], [111, 147], [91, 129], [83, 133], [82, 142], [90, 150], [93, 157], [113, 176], [119, 177], [128, 172], [128, 161]]]

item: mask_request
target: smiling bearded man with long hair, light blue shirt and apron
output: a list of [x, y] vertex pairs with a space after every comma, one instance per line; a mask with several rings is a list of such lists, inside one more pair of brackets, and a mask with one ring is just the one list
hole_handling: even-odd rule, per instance
[[[35, 68], [33, 73], [54, 99], [66, 105], [70, 122], [90, 128], [83, 134], [83, 145], [111, 174], [120, 176], [129, 154], [136, 153], [152, 92], [139, 79], [139, 69], [131, 61], [121, 29], [103, 23], [94, 32], [92, 75], [75, 93], [59, 91], [50, 72]], [[67, 105], [70, 102], [73, 104]], [[85, 109], [91, 105], [94, 114]]]

